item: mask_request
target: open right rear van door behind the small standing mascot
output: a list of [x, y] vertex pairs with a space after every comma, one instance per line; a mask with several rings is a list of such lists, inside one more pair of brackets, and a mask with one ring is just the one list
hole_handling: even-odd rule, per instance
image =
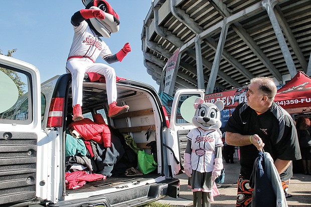
[[[194, 116], [195, 99], [204, 99], [205, 90], [202, 89], [180, 89], [176, 91], [172, 104], [170, 128], [168, 129], [167, 143], [174, 152], [170, 157], [173, 175], [181, 173], [184, 163], [184, 152], [187, 145], [187, 134], [194, 128], [191, 119]], [[172, 151], [168, 151], [172, 153]]]

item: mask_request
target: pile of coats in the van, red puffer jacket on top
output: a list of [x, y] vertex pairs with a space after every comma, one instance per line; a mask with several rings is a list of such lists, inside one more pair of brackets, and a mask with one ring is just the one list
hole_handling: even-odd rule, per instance
[[124, 137], [108, 126], [101, 114], [69, 124], [66, 133], [66, 173], [87, 171], [107, 177], [137, 166], [135, 152]]

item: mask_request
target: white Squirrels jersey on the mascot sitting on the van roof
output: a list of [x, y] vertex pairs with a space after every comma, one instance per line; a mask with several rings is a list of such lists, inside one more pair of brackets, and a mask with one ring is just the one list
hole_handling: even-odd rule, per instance
[[98, 56], [105, 58], [111, 55], [109, 47], [90, 29], [86, 21], [81, 22], [78, 27], [73, 27], [74, 36], [69, 57], [87, 57], [95, 62]]

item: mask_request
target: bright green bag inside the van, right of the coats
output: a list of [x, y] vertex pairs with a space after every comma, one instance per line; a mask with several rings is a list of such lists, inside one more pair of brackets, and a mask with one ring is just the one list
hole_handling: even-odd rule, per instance
[[157, 168], [157, 162], [154, 161], [153, 154], [148, 154], [144, 150], [137, 151], [137, 168], [142, 174], [148, 174]]

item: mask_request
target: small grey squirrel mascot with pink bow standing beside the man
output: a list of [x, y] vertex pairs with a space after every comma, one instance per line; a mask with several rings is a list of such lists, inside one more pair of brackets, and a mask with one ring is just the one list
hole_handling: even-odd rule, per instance
[[196, 128], [187, 135], [188, 142], [184, 154], [184, 169], [189, 176], [188, 186], [193, 191], [193, 206], [211, 206], [213, 196], [219, 191], [215, 179], [223, 169], [221, 147], [220, 111], [223, 101], [204, 103], [197, 98], [192, 123]]

